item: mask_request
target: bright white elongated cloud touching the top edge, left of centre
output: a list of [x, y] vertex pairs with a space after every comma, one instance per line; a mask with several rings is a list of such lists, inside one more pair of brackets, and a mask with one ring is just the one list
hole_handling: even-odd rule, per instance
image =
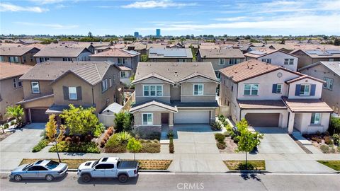
[[183, 7], [183, 6], [196, 6], [196, 3], [175, 3], [170, 0], [162, 1], [136, 1], [135, 3], [122, 6], [123, 8], [167, 8], [167, 7]]

